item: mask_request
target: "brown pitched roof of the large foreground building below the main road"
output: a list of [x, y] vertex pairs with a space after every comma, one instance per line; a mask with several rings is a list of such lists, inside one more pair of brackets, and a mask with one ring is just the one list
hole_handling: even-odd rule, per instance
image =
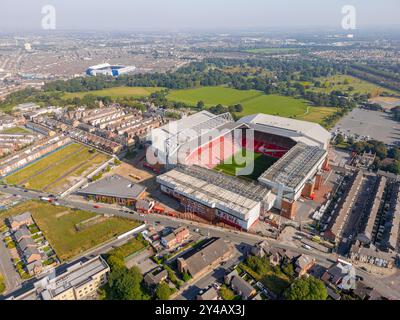
[[185, 254], [179, 259], [186, 262], [189, 273], [192, 276], [195, 276], [229, 251], [230, 248], [223, 239], [211, 238], [205, 244], [200, 246], [200, 248], [188, 252], [188, 254]]

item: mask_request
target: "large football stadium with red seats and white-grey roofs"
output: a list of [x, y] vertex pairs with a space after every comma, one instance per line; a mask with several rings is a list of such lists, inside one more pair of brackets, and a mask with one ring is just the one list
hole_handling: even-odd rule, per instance
[[149, 149], [166, 171], [161, 190], [186, 212], [248, 230], [272, 208], [294, 219], [322, 183], [329, 140], [315, 123], [202, 111], [153, 130]]

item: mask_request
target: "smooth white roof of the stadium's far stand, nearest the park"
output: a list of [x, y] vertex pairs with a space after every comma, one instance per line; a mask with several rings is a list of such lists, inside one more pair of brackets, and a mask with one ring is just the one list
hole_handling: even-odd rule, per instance
[[311, 146], [328, 147], [331, 134], [317, 123], [272, 116], [264, 113], [241, 118], [239, 123], [270, 134], [291, 138]]

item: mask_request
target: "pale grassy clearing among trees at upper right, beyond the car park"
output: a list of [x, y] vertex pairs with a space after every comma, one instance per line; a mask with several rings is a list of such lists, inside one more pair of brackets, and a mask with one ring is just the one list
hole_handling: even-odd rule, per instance
[[[330, 93], [332, 90], [339, 90], [342, 92], [348, 92], [353, 94], [370, 93], [373, 97], [379, 96], [383, 92], [398, 94], [398, 92], [395, 92], [393, 90], [385, 89], [376, 84], [349, 75], [339, 74], [332, 77], [318, 78], [317, 80], [321, 82], [321, 88], [316, 88], [313, 85], [311, 85], [309, 88], [310, 90], [315, 92], [324, 92], [324, 93]], [[351, 87], [353, 88], [352, 91], [350, 90]]]

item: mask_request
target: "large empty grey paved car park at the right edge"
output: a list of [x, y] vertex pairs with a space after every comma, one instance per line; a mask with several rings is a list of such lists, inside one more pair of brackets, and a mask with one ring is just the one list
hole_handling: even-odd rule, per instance
[[333, 129], [347, 135], [369, 136], [388, 145], [399, 145], [400, 124], [387, 113], [354, 109]]

